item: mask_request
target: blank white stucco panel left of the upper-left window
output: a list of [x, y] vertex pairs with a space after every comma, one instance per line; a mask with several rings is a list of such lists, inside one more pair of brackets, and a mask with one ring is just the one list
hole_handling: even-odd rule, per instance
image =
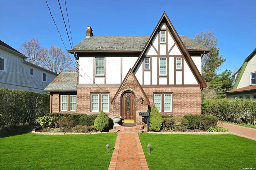
[[93, 57], [79, 58], [79, 84], [93, 84]]

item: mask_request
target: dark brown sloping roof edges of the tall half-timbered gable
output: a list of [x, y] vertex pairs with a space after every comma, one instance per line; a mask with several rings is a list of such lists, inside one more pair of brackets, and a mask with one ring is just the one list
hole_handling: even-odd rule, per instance
[[136, 70], [137, 66], [140, 63], [140, 60], [142, 59], [142, 57], [144, 56], [144, 54], [146, 53], [146, 51], [148, 50], [148, 47], [151, 45], [153, 38], [155, 37], [158, 28], [160, 27], [160, 24], [165, 22], [167, 27], [169, 28], [174, 40], [177, 42], [178, 44], [178, 48], [182, 51], [182, 54], [184, 55], [184, 57], [186, 58], [188, 65], [191, 67], [192, 72], [194, 73], [197, 81], [199, 81], [200, 83], [200, 88], [205, 88], [207, 87], [203, 77], [201, 76], [199, 70], [197, 69], [195, 63], [193, 62], [192, 58], [190, 57], [188, 50], [186, 49], [185, 45], [183, 44], [181, 38], [179, 37], [177, 31], [175, 30], [174, 26], [172, 25], [170, 19], [168, 18], [168, 16], [166, 15], [166, 13], [164, 12], [162, 17], [160, 18], [159, 22], [157, 23], [154, 31], [152, 32], [150, 38], [148, 39], [148, 42], [146, 43], [144, 49], [142, 50], [140, 56], [138, 57], [137, 61], [135, 62], [132, 70], [133, 72]]

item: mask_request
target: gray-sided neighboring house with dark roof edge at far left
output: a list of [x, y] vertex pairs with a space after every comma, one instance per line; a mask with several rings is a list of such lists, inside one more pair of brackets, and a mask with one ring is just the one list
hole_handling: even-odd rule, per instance
[[42, 90], [58, 76], [56, 73], [25, 61], [24, 59], [28, 57], [3, 41], [0, 47], [1, 88], [43, 93]]

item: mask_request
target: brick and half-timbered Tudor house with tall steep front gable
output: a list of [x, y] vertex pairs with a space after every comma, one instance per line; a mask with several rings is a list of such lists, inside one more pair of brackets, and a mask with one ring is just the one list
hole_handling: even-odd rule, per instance
[[[163, 13], [151, 36], [93, 36], [69, 50], [78, 73], [62, 73], [45, 91], [51, 112], [97, 114], [143, 125], [155, 104], [163, 115], [201, 114], [201, 55], [210, 50], [179, 36]], [[71, 84], [71, 85], [70, 85]]]

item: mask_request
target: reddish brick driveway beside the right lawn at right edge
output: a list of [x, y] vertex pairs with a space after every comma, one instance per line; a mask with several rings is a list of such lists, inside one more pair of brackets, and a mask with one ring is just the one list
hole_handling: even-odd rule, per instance
[[248, 128], [248, 127], [243, 127], [243, 126], [229, 124], [229, 123], [222, 123], [222, 122], [218, 122], [218, 126], [227, 128], [230, 134], [256, 140], [256, 129], [254, 128]]

